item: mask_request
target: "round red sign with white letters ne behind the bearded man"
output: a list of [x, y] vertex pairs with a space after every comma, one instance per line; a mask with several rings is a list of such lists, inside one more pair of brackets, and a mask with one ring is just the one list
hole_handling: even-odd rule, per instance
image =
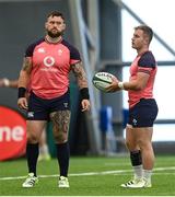
[[0, 161], [25, 153], [26, 121], [16, 111], [0, 106]]

